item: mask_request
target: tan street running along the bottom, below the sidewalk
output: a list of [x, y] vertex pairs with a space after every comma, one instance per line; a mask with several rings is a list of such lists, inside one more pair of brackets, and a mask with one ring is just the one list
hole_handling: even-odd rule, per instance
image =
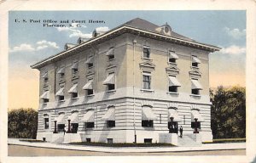
[[154, 153], [107, 153], [68, 149], [49, 149], [22, 145], [8, 145], [9, 156], [122, 156], [122, 155], [246, 155], [246, 149], [154, 152]]

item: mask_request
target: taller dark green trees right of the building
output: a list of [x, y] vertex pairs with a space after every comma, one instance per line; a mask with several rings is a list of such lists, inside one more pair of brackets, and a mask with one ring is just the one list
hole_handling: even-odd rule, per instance
[[212, 101], [212, 135], [213, 138], [246, 137], [246, 91], [245, 87], [222, 86], [213, 93]]

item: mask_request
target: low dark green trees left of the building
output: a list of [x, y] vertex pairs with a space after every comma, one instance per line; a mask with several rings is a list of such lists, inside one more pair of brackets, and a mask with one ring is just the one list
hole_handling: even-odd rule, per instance
[[8, 112], [9, 138], [37, 138], [37, 129], [38, 111], [21, 108]]

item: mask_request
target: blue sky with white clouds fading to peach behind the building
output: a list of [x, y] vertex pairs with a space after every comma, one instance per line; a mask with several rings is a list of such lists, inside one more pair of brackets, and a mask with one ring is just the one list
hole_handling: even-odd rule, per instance
[[[38, 109], [39, 71], [32, 70], [30, 65], [63, 51], [67, 42], [76, 43], [79, 37], [91, 37], [96, 28], [110, 30], [137, 17], [156, 25], [168, 23], [172, 31], [222, 48], [210, 54], [210, 87], [245, 87], [244, 10], [10, 11], [9, 110]], [[61, 23], [66, 27], [44, 26], [47, 20], [57, 21], [52, 24], [58, 25], [60, 21], [68, 20], [68, 23]], [[88, 20], [102, 20], [103, 23], [88, 23]]]

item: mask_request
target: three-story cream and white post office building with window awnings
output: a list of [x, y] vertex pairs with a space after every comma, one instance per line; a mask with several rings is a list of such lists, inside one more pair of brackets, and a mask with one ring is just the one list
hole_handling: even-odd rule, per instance
[[139, 18], [66, 44], [32, 65], [40, 71], [37, 137], [159, 143], [183, 126], [183, 135], [212, 141], [209, 53], [218, 50]]

